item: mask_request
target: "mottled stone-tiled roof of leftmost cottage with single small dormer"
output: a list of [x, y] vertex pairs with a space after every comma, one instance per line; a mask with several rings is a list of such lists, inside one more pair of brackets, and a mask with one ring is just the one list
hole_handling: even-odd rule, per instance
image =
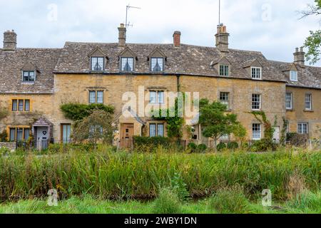
[[[0, 49], [0, 93], [54, 93], [54, 68], [61, 49]], [[35, 83], [22, 82], [22, 70], [33, 66]], [[31, 70], [31, 69], [29, 69]]]

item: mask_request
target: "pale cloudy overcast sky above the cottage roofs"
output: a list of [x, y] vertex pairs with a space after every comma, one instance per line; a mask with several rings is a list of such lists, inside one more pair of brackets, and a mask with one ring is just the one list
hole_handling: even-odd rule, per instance
[[[298, 10], [313, 0], [221, 0], [221, 22], [230, 48], [261, 51], [266, 58], [292, 61], [317, 18], [299, 20]], [[114, 43], [129, 11], [128, 43], [182, 43], [215, 46], [218, 0], [0, 0], [0, 30], [14, 29], [19, 47], [61, 48], [65, 41]], [[317, 66], [321, 66], [318, 63]]]

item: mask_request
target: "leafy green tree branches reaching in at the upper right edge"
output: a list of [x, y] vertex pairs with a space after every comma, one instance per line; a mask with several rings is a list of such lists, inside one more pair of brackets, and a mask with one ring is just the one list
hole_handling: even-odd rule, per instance
[[[321, 0], [315, 0], [315, 5], [308, 5], [307, 10], [301, 11], [301, 19], [307, 16], [320, 16], [321, 15]], [[320, 21], [321, 22], [321, 21]], [[321, 54], [321, 30], [310, 31], [310, 36], [305, 40], [305, 47], [308, 48], [306, 57], [307, 61], [311, 64], [320, 61]]]

